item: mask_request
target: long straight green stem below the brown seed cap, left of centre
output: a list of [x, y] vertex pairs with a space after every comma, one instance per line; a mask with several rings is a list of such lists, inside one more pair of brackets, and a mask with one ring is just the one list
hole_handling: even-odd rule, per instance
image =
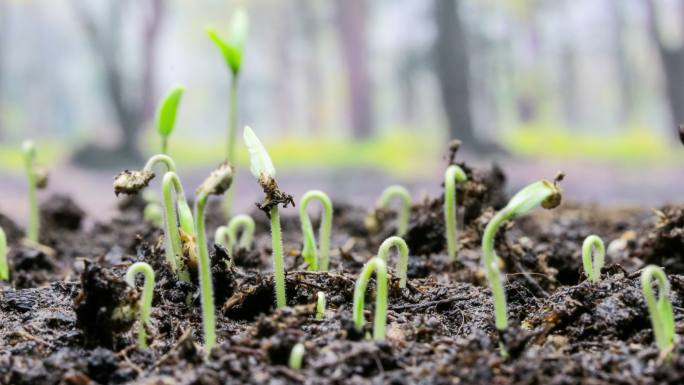
[[197, 247], [199, 249], [199, 282], [202, 301], [202, 329], [204, 330], [204, 352], [209, 356], [216, 344], [216, 320], [214, 314], [214, 287], [211, 277], [209, 250], [204, 232], [204, 209], [207, 204], [206, 192], [200, 192], [195, 202], [195, 225]]

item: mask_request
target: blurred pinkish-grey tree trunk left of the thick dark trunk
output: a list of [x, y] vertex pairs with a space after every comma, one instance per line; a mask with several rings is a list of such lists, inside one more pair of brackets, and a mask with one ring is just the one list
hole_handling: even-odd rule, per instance
[[368, 73], [367, 0], [337, 0], [337, 25], [347, 69], [347, 87], [354, 137], [367, 138], [373, 130], [373, 98]]

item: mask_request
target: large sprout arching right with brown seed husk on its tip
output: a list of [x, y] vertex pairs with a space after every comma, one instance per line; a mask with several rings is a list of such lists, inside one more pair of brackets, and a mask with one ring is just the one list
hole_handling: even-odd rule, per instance
[[560, 204], [561, 191], [558, 182], [563, 175], [559, 174], [554, 183], [547, 180], [532, 183], [511, 198], [506, 207], [501, 209], [487, 224], [482, 237], [482, 259], [487, 280], [494, 296], [494, 316], [498, 330], [508, 327], [508, 315], [506, 309], [506, 294], [504, 293], [501, 272], [499, 271], [498, 258], [494, 253], [494, 237], [501, 225], [517, 216], [525, 214], [537, 206], [552, 209]]

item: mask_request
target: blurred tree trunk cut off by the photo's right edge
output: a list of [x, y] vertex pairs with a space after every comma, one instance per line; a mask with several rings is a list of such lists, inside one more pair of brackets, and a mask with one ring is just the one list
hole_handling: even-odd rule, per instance
[[[672, 125], [676, 128], [679, 124], [684, 123], [684, 46], [680, 44], [677, 47], [672, 47], [665, 43], [658, 25], [658, 8], [653, 3], [653, 0], [645, 1], [651, 37], [658, 48], [663, 74], [665, 75], [665, 90], [669, 102]], [[676, 11], [681, 13], [683, 11], [681, 4], [677, 5], [679, 7]], [[684, 25], [684, 14], [682, 14], [680, 19], [682, 25]]]

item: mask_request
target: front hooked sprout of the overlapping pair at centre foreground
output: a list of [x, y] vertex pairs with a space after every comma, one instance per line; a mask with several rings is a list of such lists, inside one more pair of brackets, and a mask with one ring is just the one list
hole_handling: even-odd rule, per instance
[[359, 279], [356, 280], [354, 286], [354, 305], [353, 305], [353, 319], [354, 326], [357, 330], [363, 330], [364, 317], [363, 306], [366, 296], [366, 288], [371, 275], [375, 271], [376, 274], [376, 290], [375, 290], [375, 318], [373, 320], [373, 339], [385, 339], [385, 325], [387, 324], [387, 264], [382, 258], [375, 257], [368, 261]]

